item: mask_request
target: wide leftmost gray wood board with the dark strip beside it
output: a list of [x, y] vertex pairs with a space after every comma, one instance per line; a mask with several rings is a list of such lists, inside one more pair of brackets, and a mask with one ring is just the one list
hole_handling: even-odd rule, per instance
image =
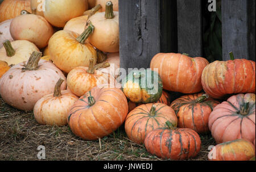
[[119, 0], [121, 68], [149, 68], [156, 53], [175, 51], [171, 9], [176, 9], [176, 1]]

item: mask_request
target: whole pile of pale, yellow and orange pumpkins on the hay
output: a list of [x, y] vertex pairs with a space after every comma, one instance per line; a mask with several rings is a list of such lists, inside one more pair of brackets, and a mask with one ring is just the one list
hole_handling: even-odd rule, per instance
[[[159, 53], [119, 83], [118, 0], [5, 0], [0, 22], [0, 95], [39, 124], [68, 124], [85, 140], [125, 124], [130, 140], [171, 160], [196, 157], [211, 132], [209, 160], [255, 157], [254, 61]], [[185, 95], [170, 102], [170, 92]]]

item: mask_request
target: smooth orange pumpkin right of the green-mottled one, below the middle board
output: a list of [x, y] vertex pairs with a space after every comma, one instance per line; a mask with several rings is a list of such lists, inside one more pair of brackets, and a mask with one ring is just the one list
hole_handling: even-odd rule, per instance
[[202, 90], [201, 74], [208, 64], [209, 62], [202, 57], [158, 53], [152, 58], [150, 68], [159, 73], [164, 90], [193, 94]]

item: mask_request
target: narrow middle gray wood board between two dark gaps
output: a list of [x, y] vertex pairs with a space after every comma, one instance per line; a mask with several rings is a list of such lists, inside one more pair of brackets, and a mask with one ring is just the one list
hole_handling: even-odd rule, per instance
[[201, 0], [177, 0], [178, 52], [203, 55]]

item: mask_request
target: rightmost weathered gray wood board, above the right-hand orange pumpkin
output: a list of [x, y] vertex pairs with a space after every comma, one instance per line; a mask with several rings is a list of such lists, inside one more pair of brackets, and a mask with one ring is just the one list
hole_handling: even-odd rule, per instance
[[222, 54], [255, 61], [255, 0], [222, 1]]

